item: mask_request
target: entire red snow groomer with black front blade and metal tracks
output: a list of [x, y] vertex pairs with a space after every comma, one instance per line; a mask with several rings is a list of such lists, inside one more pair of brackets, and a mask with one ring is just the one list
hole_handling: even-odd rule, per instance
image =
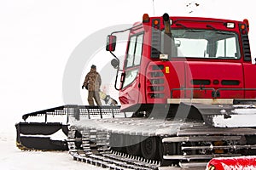
[[[74, 160], [110, 169], [205, 169], [212, 158], [256, 156], [248, 28], [247, 20], [144, 14], [108, 35], [120, 105], [64, 105], [25, 115], [16, 125], [18, 147], [61, 145]], [[123, 62], [114, 51], [124, 31]], [[63, 124], [49, 122], [60, 114], [67, 117]], [[32, 122], [38, 116], [44, 122]], [[51, 135], [60, 131], [64, 141]], [[209, 165], [218, 169], [228, 160]]]

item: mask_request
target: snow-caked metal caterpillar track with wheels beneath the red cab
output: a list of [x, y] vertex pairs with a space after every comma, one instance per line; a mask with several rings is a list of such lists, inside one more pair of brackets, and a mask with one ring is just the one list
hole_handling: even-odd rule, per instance
[[[108, 166], [102, 161], [108, 162], [110, 157], [119, 160], [113, 161], [119, 167], [131, 169], [138, 165], [146, 169], [165, 165], [205, 167], [213, 157], [241, 156], [240, 150], [245, 154], [248, 148], [256, 149], [255, 144], [242, 143], [244, 137], [237, 135], [253, 135], [253, 128], [209, 128], [204, 123], [119, 118], [84, 120], [71, 129], [67, 141], [74, 159], [87, 162], [94, 158], [103, 167]], [[129, 144], [131, 139], [137, 143]], [[139, 147], [145, 153], [139, 153]], [[152, 152], [147, 153], [149, 150]]]

